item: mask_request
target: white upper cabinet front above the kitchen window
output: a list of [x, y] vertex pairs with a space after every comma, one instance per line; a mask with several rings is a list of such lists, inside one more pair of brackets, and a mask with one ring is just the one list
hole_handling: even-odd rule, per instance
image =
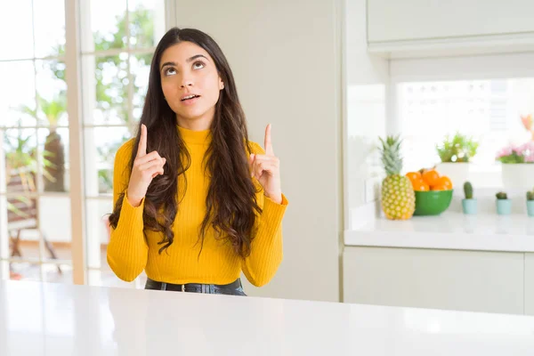
[[532, 0], [368, 0], [368, 42], [534, 33]]

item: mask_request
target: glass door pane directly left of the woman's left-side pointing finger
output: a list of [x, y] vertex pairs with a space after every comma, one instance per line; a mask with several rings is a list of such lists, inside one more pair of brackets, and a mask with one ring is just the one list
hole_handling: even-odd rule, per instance
[[113, 162], [118, 148], [132, 137], [127, 127], [85, 128], [85, 194], [113, 193]]

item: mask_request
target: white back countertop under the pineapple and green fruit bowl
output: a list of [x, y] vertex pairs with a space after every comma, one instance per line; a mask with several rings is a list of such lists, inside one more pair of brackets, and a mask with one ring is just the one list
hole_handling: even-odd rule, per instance
[[408, 221], [369, 219], [344, 232], [346, 246], [534, 252], [534, 218], [526, 214], [444, 213]]

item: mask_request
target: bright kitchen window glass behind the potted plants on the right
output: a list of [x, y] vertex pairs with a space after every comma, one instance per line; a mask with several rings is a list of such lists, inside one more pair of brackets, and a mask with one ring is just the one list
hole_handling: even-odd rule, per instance
[[532, 140], [522, 116], [534, 115], [534, 78], [409, 82], [398, 91], [406, 170], [440, 162], [435, 146], [447, 134], [473, 136], [480, 145], [472, 161], [485, 167], [507, 144]]

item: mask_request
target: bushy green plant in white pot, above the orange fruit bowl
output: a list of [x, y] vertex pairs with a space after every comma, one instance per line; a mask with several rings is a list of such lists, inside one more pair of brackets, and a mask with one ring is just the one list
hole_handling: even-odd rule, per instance
[[457, 133], [436, 145], [436, 151], [441, 163], [437, 169], [441, 174], [449, 176], [454, 187], [469, 179], [469, 162], [476, 155], [479, 143], [465, 134]]

